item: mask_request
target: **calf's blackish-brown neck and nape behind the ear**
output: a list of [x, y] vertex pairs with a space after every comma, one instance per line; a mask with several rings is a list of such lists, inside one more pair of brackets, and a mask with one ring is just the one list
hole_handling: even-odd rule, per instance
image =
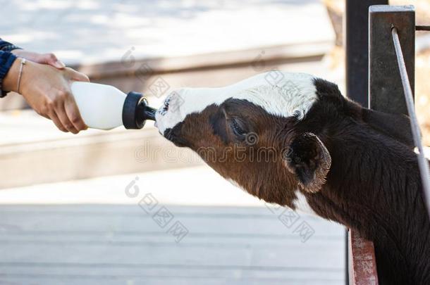
[[382, 284], [430, 284], [430, 223], [416, 154], [366, 122], [364, 109], [340, 98], [337, 87], [315, 84], [321, 99], [300, 125], [324, 142], [332, 165], [323, 189], [307, 194], [309, 205], [374, 241]]

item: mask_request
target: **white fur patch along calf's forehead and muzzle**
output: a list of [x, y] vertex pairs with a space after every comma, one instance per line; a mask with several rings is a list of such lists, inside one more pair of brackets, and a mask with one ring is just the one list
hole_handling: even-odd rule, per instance
[[202, 112], [212, 104], [220, 105], [227, 99], [245, 99], [261, 106], [271, 115], [305, 117], [317, 100], [314, 77], [305, 73], [273, 70], [247, 78], [227, 87], [184, 88], [173, 91], [167, 98], [168, 110], [161, 107], [156, 113], [156, 124], [161, 134], [191, 113]]

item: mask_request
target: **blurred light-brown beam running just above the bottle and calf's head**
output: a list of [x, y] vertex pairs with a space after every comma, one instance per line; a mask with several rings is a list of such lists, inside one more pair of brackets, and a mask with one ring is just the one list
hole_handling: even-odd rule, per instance
[[[257, 56], [262, 56], [259, 64], [295, 63], [319, 60], [330, 50], [331, 42], [312, 42], [285, 46], [262, 46], [258, 49], [242, 51], [223, 51], [219, 53], [196, 54], [176, 58], [147, 58], [133, 61], [97, 63], [71, 66], [94, 80], [111, 77], [142, 77], [172, 72], [214, 70], [219, 68], [238, 68], [252, 65]], [[263, 53], [262, 53], [263, 51]], [[128, 58], [126, 58], [128, 59]]]

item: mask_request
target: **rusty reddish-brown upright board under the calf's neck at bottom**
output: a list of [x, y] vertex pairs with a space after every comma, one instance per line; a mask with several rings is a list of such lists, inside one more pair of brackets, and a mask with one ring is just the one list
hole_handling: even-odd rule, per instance
[[378, 285], [374, 244], [357, 231], [348, 231], [350, 285]]

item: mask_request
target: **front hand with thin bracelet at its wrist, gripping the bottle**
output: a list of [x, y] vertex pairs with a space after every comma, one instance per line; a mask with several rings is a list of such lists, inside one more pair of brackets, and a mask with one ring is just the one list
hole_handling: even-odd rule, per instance
[[87, 129], [76, 106], [70, 84], [73, 81], [89, 82], [87, 75], [71, 68], [53, 68], [51, 65], [27, 61], [23, 67], [20, 87], [17, 82], [20, 69], [17, 59], [4, 78], [4, 89], [23, 95], [27, 103], [45, 118], [51, 119], [63, 132], [78, 134]]

